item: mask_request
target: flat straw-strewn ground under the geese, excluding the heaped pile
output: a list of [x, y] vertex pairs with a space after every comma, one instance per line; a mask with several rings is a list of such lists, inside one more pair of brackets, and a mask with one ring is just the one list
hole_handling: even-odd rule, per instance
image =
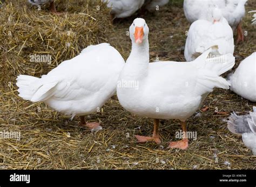
[[[256, 10], [248, 1], [246, 12]], [[116, 19], [109, 42], [126, 59], [131, 41], [126, 32], [136, 17], [146, 19], [150, 28], [151, 61], [185, 61], [183, 47], [190, 24], [183, 12], [182, 1], [155, 13], [139, 11], [137, 15]], [[235, 46], [236, 66], [256, 51], [256, 26], [252, 14], [246, 13], [242, 27], [247, 31], [245, 41]], [[235, 34], [234, 34], [235, 35]], [[224, 76], [226, 76], [226, 73]], [[31, 103], [17, 96], [16, 87], [0, 94], [0, 131], [21, 132], [21, 140], [0, 139], [0, 169], [255, 169], [256, 157], [241, 141], [227, 130], [229, 114], [245, 114], [255, 103], [241, 98], [230, 90], [215, 89], [202, 107], [209, 107], [188, 119], [188, 130], [197, 132], [187, 150], [168, 149], [169, 141], [177, 140], [179, 121], [163, 120], [160, 125], [162, 143], [136, 143], [133, 137], [151, 135], [153, 121], [123, 109], [117, 97], [107, 102], [102, 112], [91, 114], [89, 121], [100, 120], [103, 130], [91, 133], [78, 127], [78, 118], [69, 120], [52, 111], [44, 103]], [[41, 109], [41, 110], [38, 110]]]

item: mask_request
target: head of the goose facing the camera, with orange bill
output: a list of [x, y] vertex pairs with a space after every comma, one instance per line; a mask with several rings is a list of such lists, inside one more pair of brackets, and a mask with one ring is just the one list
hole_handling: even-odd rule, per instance
[[148, 38], [149, 27], [147, 26], [145, 19], [136, 18], [133, 20], [129, 32], [132, 42], [139, 45]]

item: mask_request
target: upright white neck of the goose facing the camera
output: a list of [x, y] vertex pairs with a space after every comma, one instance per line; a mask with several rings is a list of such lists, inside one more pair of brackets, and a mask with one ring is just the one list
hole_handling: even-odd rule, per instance
[[125, 74], [134, 80], [141, 80], [147, 76], [149, 70], [149, 40], [142, 44], [132, 41], [132, 51], [125, 64]]

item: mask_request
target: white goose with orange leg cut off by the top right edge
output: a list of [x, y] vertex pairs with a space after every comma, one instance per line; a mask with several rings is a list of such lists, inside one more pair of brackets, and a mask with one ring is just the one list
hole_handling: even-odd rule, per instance
[[185, 16], [190, 23], [199, 18], [206, 19], [206, 12], [209, 7], [218, 6], [227, 19], [228, 24], [233, 28], [237, 28], [237, 43], [244, 41], [244, 33], [242, 32], [241, 20], [245, 15], [245, 3], [247, 0], [184, 0]]

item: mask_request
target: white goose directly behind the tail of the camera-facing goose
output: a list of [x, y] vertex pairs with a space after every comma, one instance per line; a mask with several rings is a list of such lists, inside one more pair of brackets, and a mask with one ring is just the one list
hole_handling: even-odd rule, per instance
[[218, 46], [218, 49], [214, 49], [210, 56], [234, 53], [233, 31], [220, 9], [211, 8], [207, 14], [207, 20], [194, 21], [188, 30], [184, 51], [188, 62], [195, 60], [211, 46]]

